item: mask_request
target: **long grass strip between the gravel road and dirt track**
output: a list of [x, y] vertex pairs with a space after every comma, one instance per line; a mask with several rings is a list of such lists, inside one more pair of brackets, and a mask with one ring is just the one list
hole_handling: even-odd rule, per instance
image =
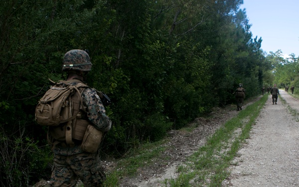
[[220, 127], [204, 146], [178, 167], [178, 178], [165, 180], [164, 186], [220, 187], [223, 180], [230, 175], [227, 169], [242, 143], [249, 138], [252, 125], [267, 100], [268, 95], [264, 95]]

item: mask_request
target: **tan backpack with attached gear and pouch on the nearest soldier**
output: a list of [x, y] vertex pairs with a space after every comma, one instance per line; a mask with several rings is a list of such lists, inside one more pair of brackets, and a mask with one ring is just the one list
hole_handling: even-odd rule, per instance
[[[83, 151], [95, 153], [98, 150], [103, 133], [95, 129], [87, 120], [80, 119], [82, 117], [80, 108], [84, 110], [84, 107], [79, 107], [83, 106], [81, 93], [84, 89], [82, 88], [87, 87], [80, 81], [76, 85], [60, 81], [55, 83], [38, 102], [35, 120], [40, 125], [49, 126], [48, 142], [52, 148], [60, 141], [71, 145], [74, 144], [73, 140], [79, 140], [82, 141]], [[101, 99], [103, 98], [103, 103], [106, 105], [111, 103], [105, 93], [98, 92], [98, 94]]]

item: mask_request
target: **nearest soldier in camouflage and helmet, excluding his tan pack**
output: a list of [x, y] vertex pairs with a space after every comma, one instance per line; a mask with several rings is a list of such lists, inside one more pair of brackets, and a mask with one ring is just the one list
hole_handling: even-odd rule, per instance
[[[76, 85], [84, 82], [91, 66], [88, 53], [84, 50], [74, 49], [65, 53], [62, 70], [68, 73], [67, 81]], [[81, 96], [82, 103], [78, 102], [79, 104], [77, 104], [81, 121], [89, 123], [100, 132], [110, 130], [111, 121], [105, 113], [105, 108], [96, 90], [85, 87]], [[77, 121], [79, 120], [77, 119]], [[49, 131], [50, 136], [55, 137], [53, 134], [55, 132], [50, 128]], [[106, 175], [98, 151], [89, 153], [81, 147], [82, 141], [73, 140], [73, 144], [69, 145], [65, 140], [56, 140], [53, 136], [50, 138], [54, 153], [50, 186], [75, 187], [80, 179], [84, 187], [103, 187]]]

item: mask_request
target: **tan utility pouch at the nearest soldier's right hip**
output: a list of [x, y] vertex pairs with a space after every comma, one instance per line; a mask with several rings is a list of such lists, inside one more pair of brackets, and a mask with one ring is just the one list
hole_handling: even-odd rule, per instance
[[102, 137], [102, 131], [97, 130], [92, 125], [88, 125], [81, 144], [81, 149], [88, 153], [96, 153], [100, 146]]

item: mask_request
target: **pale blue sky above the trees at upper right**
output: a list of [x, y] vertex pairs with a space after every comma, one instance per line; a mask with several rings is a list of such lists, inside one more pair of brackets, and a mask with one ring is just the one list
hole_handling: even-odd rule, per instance
[[262, 49], [282, 50], [285, 58], [299, 57], [299, 0], [243, 0], [252, 37], [262, 37]]

